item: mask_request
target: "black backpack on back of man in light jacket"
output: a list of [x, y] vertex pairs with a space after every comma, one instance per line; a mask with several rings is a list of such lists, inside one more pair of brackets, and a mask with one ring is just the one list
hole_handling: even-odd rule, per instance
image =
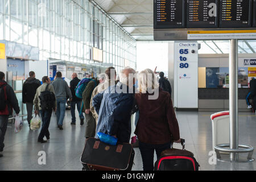
[[41, 92], [39, 98], [40, 98], [40, 107], [42, 110], [51, 110], [55, 109], [55, 94], [53, 92], [48, 91], [48, 86], [46, 86], [46, 91]]

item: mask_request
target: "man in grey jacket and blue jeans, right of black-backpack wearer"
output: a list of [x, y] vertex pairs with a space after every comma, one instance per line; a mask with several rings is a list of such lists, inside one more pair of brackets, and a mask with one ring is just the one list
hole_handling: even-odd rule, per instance
[[52, 82], [57, 100], [57, 127], [63, 130], [63, 120], [66, 111], [66, 102], [72, 101], [72, 93], [66, 81], [63, 80], [61, 72], [56, 73], [56, 79]]

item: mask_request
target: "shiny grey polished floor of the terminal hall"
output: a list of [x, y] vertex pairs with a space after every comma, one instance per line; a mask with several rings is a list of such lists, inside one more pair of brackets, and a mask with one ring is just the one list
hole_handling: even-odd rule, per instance
[[[212, 151], [212, 125], [210, 115], [206, 112], [177, 112], [181, 137], [186, 140], [186, 149], [195, 154], [201, 171], [229, 171], [229, 170], [256, 170], [256, 162], [229, 163], [217, 162], [209, 164], [208, 155]], [[78, 113], [77, 113], [78, 117]], [[0, 171], [2, 170], [65, 170], [80, 171], [82, 165], [80, 156], [85, 144], [85, 126], [71, 126], [70, 111], [66, 112], [64, 130], [56, 127], [55, 114], [52, 115], [49, 131], [51, 139], [45, 144], [37, 143], [39, 131], [29, 131], [27, 123], [23, 130], [14, 134], [14, 126], [8, 125], [5, 137], [4, 157], [0, 158]], [[133, 127], [134, 130], [134, 127]], [[131, 136], [133, 137], [133, 135]], [[239, 141], [240, 144], [256, 146], [256, 115], [252, 113], [239, 113]], [[175, 145], [176, 148], [181, 148]], [[46, 152], [46, 165], [38, 155], [40, 151]], [[256, 158], [256, 155], [253, 155]], [[135, 148], [134, 171], [142, 171], [142, 159], [138, 148]]]

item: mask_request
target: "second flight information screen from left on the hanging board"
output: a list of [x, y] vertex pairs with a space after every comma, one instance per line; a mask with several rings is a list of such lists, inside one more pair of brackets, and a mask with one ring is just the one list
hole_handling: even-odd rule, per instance
[[217, 28], [218, 0], [187, 0], [187, 28]]

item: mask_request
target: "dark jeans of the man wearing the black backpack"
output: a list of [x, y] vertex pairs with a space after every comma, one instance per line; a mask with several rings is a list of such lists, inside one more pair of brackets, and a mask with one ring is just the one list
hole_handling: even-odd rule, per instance
[[43, 140], [44, 136], [49, 138], [49, 123], [51, 122], [52, 110], [40, 110], [42, 118], [42, 129], [38, 140]]

